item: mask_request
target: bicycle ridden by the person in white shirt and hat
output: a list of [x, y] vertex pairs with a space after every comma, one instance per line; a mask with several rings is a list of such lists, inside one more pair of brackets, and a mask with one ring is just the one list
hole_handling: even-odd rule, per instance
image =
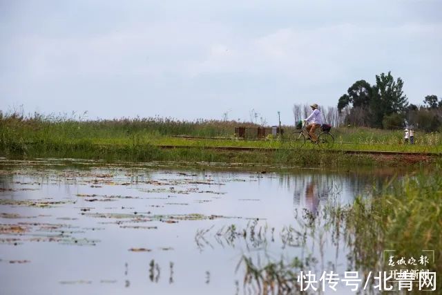
[[[318, 140], [311, 143], [317, 144], [323, 149], [330, 149], [334, 144], [334, 135], [330, 133], [331, 128], [332, 126], [327, 124], [320, 126], [320, 128], [315, 130], [316, 135], [318, 135]], [[309, 132], [307, 131], [307, 124], [305, 124], [305, 122], [302, 122], [301, 129], [290, 133], [287, 137], [289, 149], [300, 149], [302, 146], [304, 146], [307, 140], [311, 140], [311, 138]]]

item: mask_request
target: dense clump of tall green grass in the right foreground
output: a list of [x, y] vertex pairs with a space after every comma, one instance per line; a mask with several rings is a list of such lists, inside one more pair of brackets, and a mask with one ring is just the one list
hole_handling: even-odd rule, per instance
[[345, 234], [354, 246], [356, 265], [376, 267], [376, 254], [385, 249], [394, 249], [398, 257], [431, 249], [432, 267], [442, 274], [441, 171], [437, 166], [434, 173], [419, 173], [374, 191], [372, 199], [356, 199], [345, 214]]

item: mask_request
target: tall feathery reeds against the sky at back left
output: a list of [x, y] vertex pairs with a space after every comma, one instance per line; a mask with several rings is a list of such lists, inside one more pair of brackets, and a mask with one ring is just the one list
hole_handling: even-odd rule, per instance
[[83, 115], [23, 115], [1, 113], [2, 133], [13, 131], [28, 139], [50, 138], [115, 138], [133, 134], [193, 135], [202, 137], [233, 135], [236, 126], [258, 126], [252, 123], [220, 120], [175, 120], [173, 118], [147, 117], [113, 120], [84, 120]]

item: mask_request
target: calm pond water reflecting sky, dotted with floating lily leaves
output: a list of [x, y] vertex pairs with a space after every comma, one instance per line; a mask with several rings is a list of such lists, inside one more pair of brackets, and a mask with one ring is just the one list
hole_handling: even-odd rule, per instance
[[242, 294], [243, 254], [311, 254], [311, 271], [343, 272], [349, 249], [330, 234], [318, 229], [300, 246], [302, 216], [349, 204], [392, 175], [76, 160], [1, 167], [1, 294]]

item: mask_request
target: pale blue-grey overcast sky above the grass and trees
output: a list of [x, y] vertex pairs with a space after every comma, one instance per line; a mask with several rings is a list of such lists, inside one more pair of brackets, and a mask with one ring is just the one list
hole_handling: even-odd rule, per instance
[[[0, 109], [293, 123], [392, 72], [442, 97], [440, 0], [0, 0]], [[252, 111], [253, 110], [253, 111]]]

